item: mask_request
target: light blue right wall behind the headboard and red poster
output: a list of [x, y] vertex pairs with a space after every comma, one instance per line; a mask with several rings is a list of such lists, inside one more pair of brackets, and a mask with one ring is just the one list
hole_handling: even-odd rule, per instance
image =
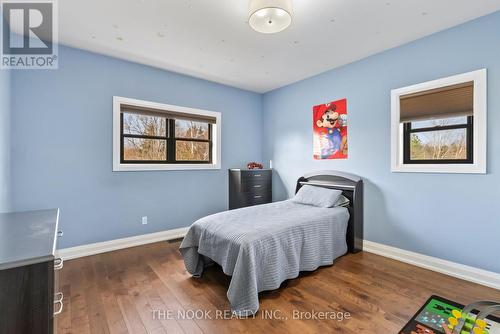
[[[305, 172], [335, 169], [365, 183], [365, 238], [500, 272], [500, 12], [264, 95], [264, 157], [276, 199]], [[488, 69], [488, 174], [390, 171], [390, 91]], [[313, 105], [348, 99], [349, 159], [313, 161]]]

